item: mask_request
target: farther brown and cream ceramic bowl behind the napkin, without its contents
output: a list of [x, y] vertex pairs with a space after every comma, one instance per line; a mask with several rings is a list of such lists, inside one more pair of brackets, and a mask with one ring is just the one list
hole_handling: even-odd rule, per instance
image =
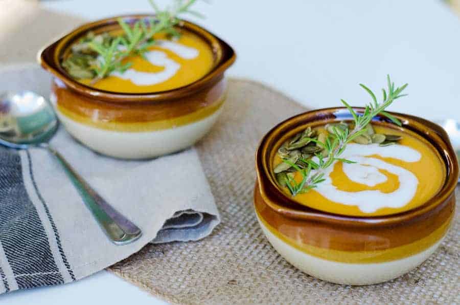
[[[148, 15], [123, 16], [134, 23]], [[225, 70], [235, 61], [233, 49], [203, 28], [183, 21], [179, 28], [206, 41], [212, 69], [179, 88], [151, 93], [119, 93], [87, 86], [70, 77], [60, 63], [68, 48], [88, 31], [118, 28], [117, 18], [83, 25], [39, 54], [54, 76], [51, 101], [68, 132], [99, 153], [127, 159], [152, 158], [193, 145], [215, 123], [225, 101]]]

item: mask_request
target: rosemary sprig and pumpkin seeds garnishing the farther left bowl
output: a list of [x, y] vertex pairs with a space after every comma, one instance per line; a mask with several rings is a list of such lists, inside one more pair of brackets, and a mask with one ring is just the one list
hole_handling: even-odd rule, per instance
[[62, 62], [62, 66], [74, 78], [91, 78], [90, 84], [109, 76], [112, 72], [123, 73], [131, 62], [123, 62], [129, 56], [140, 55], [155, 45], [153, 36], [166, 33], [178, 37], [180, 33], [174, 28], [179, 24], [178, 18], [183, 14], [202, 17], [191, 10], [196, 0], [174, 0], [172, 6], [160, 10], [153, 0], [149, 0], [155, 10], [155, 17], [137, 20], [133, 26], [118, 18], [123, 35], [112, 36], [109, 33], [95, 35], [89, 32], [75, 46], [72, 54]]

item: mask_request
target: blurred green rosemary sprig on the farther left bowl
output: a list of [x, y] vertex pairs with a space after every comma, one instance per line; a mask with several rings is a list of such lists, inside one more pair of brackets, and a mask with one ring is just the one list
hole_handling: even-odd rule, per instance
[[93, 61], [93, 70], [96, 76], [90, 84], [95, 84], [99, 80], [107, 77], [110, 73], [125, 72], [131, 63], [123, 63], [123, 60], [132, 55], [141, 55], [155, 44], [153, 36], [157, 33], [167, 33], [171, 36], [180, 36], [180, 33], [174, 29], [180, 20], [179, 15], [193, 14], [201, 16], [190, 7], [196, 0], [174, 0], [173, 5], [160, 10], [153, 0], [149, 0], [155, 10], [155, 17], [137, 20], [131, 27], [122, 18], [118, 19], [124, 35], [111, 40], [109, 44], [104, 44], [96, 39], [87, 43], [87, 46], [97, 52], [99, 56]]

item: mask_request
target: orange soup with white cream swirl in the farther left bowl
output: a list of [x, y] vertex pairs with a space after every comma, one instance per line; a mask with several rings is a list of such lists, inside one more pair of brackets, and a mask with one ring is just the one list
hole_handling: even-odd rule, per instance
[[177, 39], [169, 39], [165, 34], [157, 34], [154, 38], [155, 45], [143, 56], [123, 60], [132, 64], [125, 72], [112, 72], [94, 84], [90, 79], [78, 81], [100, 90], [149, 93], [188, 85], [212, 69], [214, 54], [208, 43], [199, 36], [182, 31]]

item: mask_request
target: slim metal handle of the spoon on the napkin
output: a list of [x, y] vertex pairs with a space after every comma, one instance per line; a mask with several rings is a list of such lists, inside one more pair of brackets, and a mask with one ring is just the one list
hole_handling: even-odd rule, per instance
[[77, 171], [58, 153], [57, 150], [46, 146], [56, 156], [75, 188], [80, 193], [87, 208], [93, 213], [105, 234], [116, 245], [126, 245], [141, 237], [142, 231], [125, 216], [109, 205]]

